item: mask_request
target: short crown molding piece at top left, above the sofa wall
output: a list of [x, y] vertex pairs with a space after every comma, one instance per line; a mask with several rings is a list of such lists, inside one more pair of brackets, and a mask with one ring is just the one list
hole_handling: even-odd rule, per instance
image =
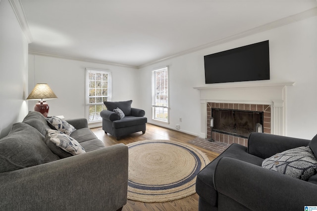
[[26, 19], [21, 0], [9, 0], [15, 16], [21, 26], [23, 34], [28, 43], [33, 42], [32, 34], [29, 29], [28, 21]]

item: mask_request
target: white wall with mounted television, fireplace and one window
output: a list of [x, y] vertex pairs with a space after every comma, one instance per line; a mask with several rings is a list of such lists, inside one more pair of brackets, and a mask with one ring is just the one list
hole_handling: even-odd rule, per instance
[[[140, 99], [148, 122], [169, 128], [179, 124], [182, 131], [199, 134], [200, 96], [193, 87], [205, 86], [204, 55], [265, 40], [270, 44], [270, 81], [295, 82], [286, 88], [286, 135], [311, 139], [317, 133], [316, 16], [141, 68]], [[165, 65], [170, 79], [169, 125], [151, 120], [151, 71]]]

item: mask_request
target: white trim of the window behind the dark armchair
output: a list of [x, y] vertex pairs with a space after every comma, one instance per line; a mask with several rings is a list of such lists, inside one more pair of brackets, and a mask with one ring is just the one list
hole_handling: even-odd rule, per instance
[[88, 72], [89, 71], [93, 71], [95, 73], [103, 73], [103, 74], [108, 74], [108, 95], [107, 95], [107, 100], [111, 101], [112, 98], [112, 73], [109, 70], [101, 70], [101, 69], [94, 69], [94, 68], [86, 68], [86, 81], [85, 81], [85, 116], [86, 119], [88, 121], [88, 124], [92, 124], [92, 123], [99, 123], [102, 122], [102, 120], [96, 120], [96, 121], [90, 121], [90, 117], [89, 117], [89, 106], [90, 105], [100, 105], [100, 104], [104, 104], [104, 103], [89, 103], [89, 88], [88, 88]]

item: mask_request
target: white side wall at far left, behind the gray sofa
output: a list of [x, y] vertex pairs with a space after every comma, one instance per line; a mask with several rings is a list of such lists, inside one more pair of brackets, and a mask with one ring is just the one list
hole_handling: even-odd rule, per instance
[[0, 138], [27, 115], [28, 42], [8, 0], [0, 1]]

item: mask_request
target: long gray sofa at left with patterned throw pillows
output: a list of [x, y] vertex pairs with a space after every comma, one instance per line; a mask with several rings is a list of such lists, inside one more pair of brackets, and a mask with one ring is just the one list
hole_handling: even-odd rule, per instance
[[127, 146], [105, 147], [86, 119], [67, 122], [85, 153], [54, 154], [45, 142], [52, 125], [39, 112], [0, 139], [1, 211], [117, 211], [126, 204]]

